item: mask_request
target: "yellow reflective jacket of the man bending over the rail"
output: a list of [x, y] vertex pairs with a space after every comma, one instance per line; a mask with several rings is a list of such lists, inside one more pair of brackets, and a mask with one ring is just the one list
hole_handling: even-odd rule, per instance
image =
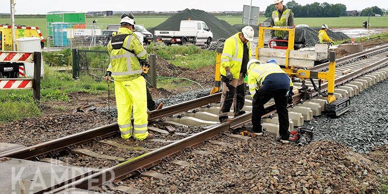
[[[279, 65], [276, 64], [258, 64], [253, 65], [248, 69], [248, 86], [251, 96], [255, 96], [256, 90], [259, 90], [262, 86], [265, 78], [273, 73], [286, 73], [284, 72]], [[293, 83], [290, 79], [290, 86], [293, 86]]]

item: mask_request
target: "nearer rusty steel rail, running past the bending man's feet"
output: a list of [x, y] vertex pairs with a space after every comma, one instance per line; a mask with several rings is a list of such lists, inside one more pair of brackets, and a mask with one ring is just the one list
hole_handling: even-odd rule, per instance
[[[346, 81], [350, 81], [355, 77], [361, 76], [365, 73], [378, 69], [387, 64], [388, 64], [388, 57], [372, 65], [365, 66], [355, 72], [352, 72], [350, 74], [337, 78], [335, 80], [335, 84], [340, 85]], [[326, 88], [327, 88], [327, 82], [322, 85], [322, 90], [324, 91]], [[315, 92], [314, 94], [316, 95], [317, 92]], [[300, 100], [301, 96], [302, 95], [300, 94], [295, 95], [297, 100]], [[275, 110], [274, 105], [266, 107], [266, 112], [267, 112], [266, 114], [274, 112], [274, 110]], [[218, 124], [210, 129], [206, 129], [192, 136], [181, 139], [175, 143], [169, 144], [167, 146], [163, 146], [159, 149], [148, 152], [139, 157], [130, 159], [129, 161], [120, 163], [116, 166], [100, 171], [89, 177], [82, 178], [68, 185], [52, 190], [48, 194], [55, 194], [71, 187], [89, 190], [94, 187], [101, 186], [106, 182], [113, 181], [115, 179], [129, 178], [131, 176], [138, 174], [139, 169], [146, 169], [146, 168], [155, 166], [161, 163], [163, 159], [176, 155], [188, 147], [200, 146], [201, 144], [203, 144], [205, 140], [213, 138], [222, 132], [228, 131], [229, 129], [236, 129], [241, 127], [244, 124], [250, 123], [251, 118], [252, 118], [252, 113], [243, 114], [234, 119], [231, 119], [227, 123]], [[105, 180], [103, 178], [105, 178]]]

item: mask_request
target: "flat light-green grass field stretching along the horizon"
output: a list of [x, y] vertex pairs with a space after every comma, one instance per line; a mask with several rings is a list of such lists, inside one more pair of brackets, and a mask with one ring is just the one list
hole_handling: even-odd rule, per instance
[[[241, 24], [241, 16], [217, 16], [220, 19], [224, 19], [231, 25]], [[137, 24], [144, 24], [144, 27], [155, 27], [165, 21], [167, 16], [139, 16], [136, 17]], [[119, 21], [118, 17], [87, 17], [87, 22], [92, 22], [97, 19], [97, 24], [115, 24]], [[259, 22], [264, 21], [265, 17], [260, 17]], [[295, 18], [295, 24], [307, 24], [310, 27], [321, 27], [323, 23], [327, 24], [330, 28], [362, 28], [362, 22], [368, 20], [368, 17], [321, 17], [321, 18]], [[44, 37], [47, 37], [47, 24], [46, 18], [15, 18], [15, 22], [26, 26], [37, 26], [41, 29]], [[0, 17], [0, 24], [10, 23], [8, 17]], [[388, 16], [371, 17], [372, 27], [388, 27]], [[105, 29], [106, 25], [102, 25], [102, 29]], [[210, 27], [211, 28], [211, 27]]]

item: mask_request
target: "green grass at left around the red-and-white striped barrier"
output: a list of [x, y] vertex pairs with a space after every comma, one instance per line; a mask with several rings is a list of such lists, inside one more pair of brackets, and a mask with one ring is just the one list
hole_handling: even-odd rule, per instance
[[[107, 90], [105, 82], [96, 82], [91, 78], [73, 80], [71, 74], [54, 72], [45, 65], [45, 78], [41, 81], [41, 101], [69, 101], [67, 94], [70, 92], [98, 94]], [[0, 123], [41, 114], [32, 98], [32, 90], [0, 90]]]

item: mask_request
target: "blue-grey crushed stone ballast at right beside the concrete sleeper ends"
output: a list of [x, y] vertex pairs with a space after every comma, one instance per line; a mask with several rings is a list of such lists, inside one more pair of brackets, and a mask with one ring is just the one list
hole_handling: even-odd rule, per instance
[[314, 141], [333, 140], [356, 152], [388, 145], [388, 81], [351, 98], [352, 109], [336, 119], [320, 116], [307, 123], [314, 127]]

